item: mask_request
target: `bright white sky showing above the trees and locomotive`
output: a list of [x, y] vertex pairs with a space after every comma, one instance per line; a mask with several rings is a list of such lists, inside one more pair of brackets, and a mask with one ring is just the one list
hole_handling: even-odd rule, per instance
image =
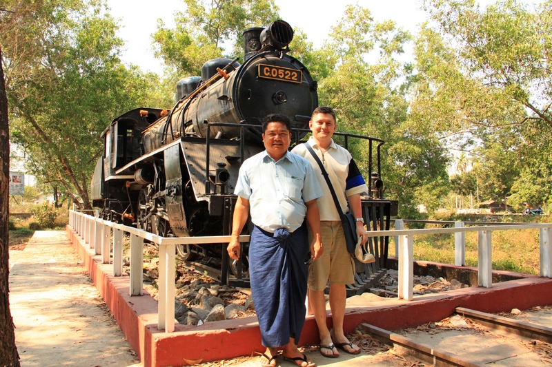
[[[481, 6], [495, 3], [493, 0], [478, 2]], [[422, 0], [275, 0], [275, 3], [280, 8], [282, 19], [290, 23], [292, 28], [303, 30], [315, 48], [324, 43], [331, 25], [344, 16], [347, 4], [358, 3], [371, 11], [375, 21], [391, 19], [398, 27], [409, 30], [412, 34], [427, 19], [426, 14], [419, 9]], [[121, 19], [119, 36], [126, 43], [123, 60], [139, 65], [144, 72], [161, 74], [162, 62], [153, 56], [151, 34], [157, 28], [158, 18], [164, 19], [166, 26], [172, 27], [173, 14], [184, 10], [184, 1], [108, 0], [108, 5], [112, 16]]]

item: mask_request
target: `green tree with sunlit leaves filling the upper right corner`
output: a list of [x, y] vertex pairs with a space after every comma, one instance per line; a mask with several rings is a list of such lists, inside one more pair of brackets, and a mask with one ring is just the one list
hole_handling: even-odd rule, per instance
[[473, 149], [482, 196], [546, 202], [552, 2], [482, 10], [473, 0], [431, 0], [425, 8], [437, 30], [424, 27], [417, 40], [413, 118], [449, 146]]

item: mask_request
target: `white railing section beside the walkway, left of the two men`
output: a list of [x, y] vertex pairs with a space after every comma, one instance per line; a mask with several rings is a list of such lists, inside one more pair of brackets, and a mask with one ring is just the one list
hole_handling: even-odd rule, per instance
[[[123, 234], [130, 235], [130, 295], [142, 295], [144, 260], [144, 240], [159, 246], [159, 300], [158, 328], [167, 333], [175, 331], [175, 278], [177, 244], [228, 243], [230, 235], [211, 237], [172, 237], [166, 238], [135, 227], [128, 227], [89, 216], [78, 211], [69, 211], [69, 225], [85, 244], [101, 255], [103, 264], [110, 263], [113, 255], [113, 276], [123, 275]], [[248, 242], [249, 235], [240, 235], [239, 242]], [[170, 276], [169, 276], [170, 275]]]

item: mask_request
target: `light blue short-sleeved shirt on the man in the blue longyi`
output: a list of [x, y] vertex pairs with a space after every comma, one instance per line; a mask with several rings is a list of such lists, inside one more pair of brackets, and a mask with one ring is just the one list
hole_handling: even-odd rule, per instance
[[265, 150], [239, 168], [234, 193], [249, 200], [253, 224], [274, 233], [301, 227], [305, 202], [322, 196], [322, 189], [308, 160], [288, 151], [276, 162]]

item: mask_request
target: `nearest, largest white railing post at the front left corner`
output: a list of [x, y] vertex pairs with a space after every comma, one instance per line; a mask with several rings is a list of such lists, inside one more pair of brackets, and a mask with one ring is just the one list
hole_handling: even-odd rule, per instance
[[159, 244], [159, 330], [175, 331], [175, 244]]

